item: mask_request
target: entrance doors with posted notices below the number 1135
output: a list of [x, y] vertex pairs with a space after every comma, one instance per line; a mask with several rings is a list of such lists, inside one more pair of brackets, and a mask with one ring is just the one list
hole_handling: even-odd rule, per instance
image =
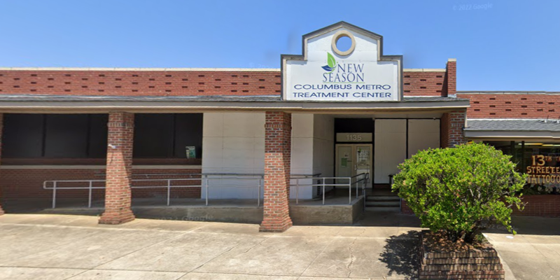
[[336, 160], [337, 177], [372, 174], [372, 144], [337, 144]]

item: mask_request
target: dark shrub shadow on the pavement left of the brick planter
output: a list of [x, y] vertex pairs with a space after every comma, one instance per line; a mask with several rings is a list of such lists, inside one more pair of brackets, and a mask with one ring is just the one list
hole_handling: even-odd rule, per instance
[[420, 264], [420, 232], [410, 230], [402, 235], [389, 237], [381, 252], [379, 260], [389, 269], [388, 276], [393, 274], [406, 276], [405, 279], [418, 279]]

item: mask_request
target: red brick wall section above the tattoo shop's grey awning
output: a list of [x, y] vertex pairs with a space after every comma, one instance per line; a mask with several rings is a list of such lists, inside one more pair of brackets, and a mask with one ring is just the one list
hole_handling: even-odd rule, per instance
[[465, 94], [470, 99], [468, 118], [560, 117], [560, 94]]

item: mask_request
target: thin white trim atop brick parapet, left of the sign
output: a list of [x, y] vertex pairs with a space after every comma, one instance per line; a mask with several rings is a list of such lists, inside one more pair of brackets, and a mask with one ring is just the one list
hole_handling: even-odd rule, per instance
[[109, 68], [109, 67], [0, 67], [0, 71], [222, 71], [280, 72], [279, 68]]

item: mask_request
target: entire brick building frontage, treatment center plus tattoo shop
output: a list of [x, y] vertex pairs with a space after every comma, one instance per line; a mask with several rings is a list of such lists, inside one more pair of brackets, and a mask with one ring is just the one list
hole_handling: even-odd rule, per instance
[[328, 215], [300, 200], [367, 204], [417, 151], [485, 141], [531, 174], [516, 214], [560, 216], [559, 92], [458, 92], [455, 59], [403, 69], [382, 46], [339, 22], [280, 69], [1, 68], [0, 205], [99, 202], [118, 224], [134, 200], [255, 201], [261, 230], [283, 231]]

